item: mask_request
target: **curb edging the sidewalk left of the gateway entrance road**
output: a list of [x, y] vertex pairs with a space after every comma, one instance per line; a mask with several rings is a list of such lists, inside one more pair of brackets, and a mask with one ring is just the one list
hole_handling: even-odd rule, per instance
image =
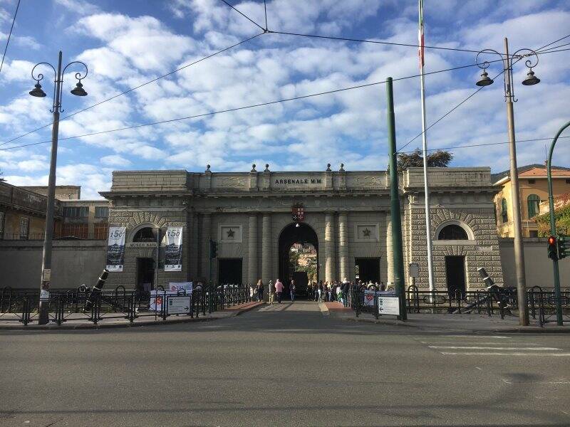
[[235, 310], [234, 312], [225, 311], [227, 315], [224, 316], [212, 316], [212, 317], [182, 317], [180, 319], [172, 319], [172, 320], [142, 320], [140, 322], [130, 323], [91, 323], [91, 324], [80, 324], [80, 325], [66, 325], [63, 323], [62, 325], [56, 325], [51, 323], [49, 325], [0, 325], [0, 332], [10, 331], [10, 330], [17, 330], [17, 331], [60, 331], [60, 330], [99, 330], [99, 329], [118, 329], [118, 328], [129, 328], [129, 327], [139, 327], [139, 326], [160, 326], [160, 325], [175, 325], [180, 323], [191, 323], [191, 322], [208, 322], [209, 320], [220, 320], [220, 319], [229, 319], [231, 317], [236, 317], [241, 315], [242, 313], [249, 312], [254, 308], [259, 307], [259, 305], [251, 305], [249, 307], [244, 307], [241, 310]]

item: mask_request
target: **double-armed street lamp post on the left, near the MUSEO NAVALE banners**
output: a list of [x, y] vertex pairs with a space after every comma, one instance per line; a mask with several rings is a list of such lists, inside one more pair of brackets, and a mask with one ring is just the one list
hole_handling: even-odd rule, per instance
[[38, 63], [34, 65], [31, 70], [31, 78], [36, 80], [36, 85], [30, 91], [31, 96], [45, 97], [46, 93], [41, 89], [40, 81], [43, 79], [43, 74], [38, 73], [34, 75], [36, 67], [39, 65], [47, 65], [53, 70], [53, 123], [51, 125], [51, 158], [49, 163], [49, 180], [48, 180], [48, 206], [46, 209], [46, 233], [43, 238], [43, 255], [41, 260], [41, 293], [38, 314], [38, 324], [46, 325], [49, 322], [48, 306], [49, 306], [49, 285], [51, 281], [51, 241], [53, 240], [53, 208], [56, 203], [56, 164], [58, 157], [58, 132], [59, 132], [59, 113], [61, 109], [61, 84], [63, 83], [63, 74], [69, 65], [81, 64], [85, 67], [85, 74], [76, 73], [78, 83], [76, 87], [71, 90], [71, 93], [76, 96], [86, 96], [87, 93], [83, 89], [81, 80], [86, 78], [88, 73], [87, 65], [81, 61], [73, 61], [68, 63], [63, 70], [61, 69], [61, 51], [59, 52], [58, 68], [53, 67], [50, 63]]

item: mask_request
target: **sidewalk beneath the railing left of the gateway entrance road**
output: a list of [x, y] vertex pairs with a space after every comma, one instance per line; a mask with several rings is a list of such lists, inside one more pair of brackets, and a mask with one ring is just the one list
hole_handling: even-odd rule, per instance
[[[19, 322], [17, 317], [6, 317], [10, 315], [7, 313], [0, 317], [0, 331], [3, 330], [82, 330], [82, 329], [103, 329], [103, 328], [116, 328], [116, 327], [135, 327], [135, 326], [149, 326], [149, 325], [172, 325], [175, 323], [188, 323], [188, 322], [205, 322], [207, 320], [218, 320], [225, 319], [227, 317], [239, 316], [244, 312], [253, 310], [263, 302], [246, 302], [244, 304], [233, 305], [232, 307], [227, 307], [222, 311], [213, 312], [209, 314], [206, 312], [202, 315], [199, 313], [197, 317], [190, 317], [188, 315], [170, 315], [166, 320], [162, 320], [160, 317], [155, 317], [154, 315], [140, 315], [137, 317], [133, 323], [129, 322], [127, 319], [123, 318], [113, 318], [115, 313], [108, 313], [103, 315], [102, 319], [97, 323], [90, 322], [87, 320], [86, 315], [81, 313], [74, 313], [67, 317], [67, 321], [63, 322], [61, 325], [57, 325], [56, 322], [49, 322], [48, 325], [38, 325], [37, 318], [31, 320], [28, 325], [24, 325]], [[120, 315], [120, 313], [117, 313]], [[105, 317], [107, 316], [107, 317]]]

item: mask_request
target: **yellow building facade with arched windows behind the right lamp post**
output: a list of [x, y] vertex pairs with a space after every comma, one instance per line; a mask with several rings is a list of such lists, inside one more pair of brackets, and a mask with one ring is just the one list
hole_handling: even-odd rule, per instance
[[[529, 164], [519, 167], [519, 199], [523, 237], [538, 237], [538, 226], [534, 216], [544, 214], [541, 201], [548, 200], [548, 180], [544, 164]], [[512, 221], [512, 182], [509, 171], [492, 176], [494, 186], [500, 191], [494, 196], [499, 237], [514, 237]], [[552, 168], [552, 190], [554, 197], [570, 192], [570, 168]]]

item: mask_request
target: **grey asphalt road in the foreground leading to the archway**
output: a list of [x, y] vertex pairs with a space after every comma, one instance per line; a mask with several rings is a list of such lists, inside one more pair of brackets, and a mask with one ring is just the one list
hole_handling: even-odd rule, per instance
[[0, 332], [0, 426], [569, 426], [569, 362], [566, 334], [420, 334], [313, 302]]

